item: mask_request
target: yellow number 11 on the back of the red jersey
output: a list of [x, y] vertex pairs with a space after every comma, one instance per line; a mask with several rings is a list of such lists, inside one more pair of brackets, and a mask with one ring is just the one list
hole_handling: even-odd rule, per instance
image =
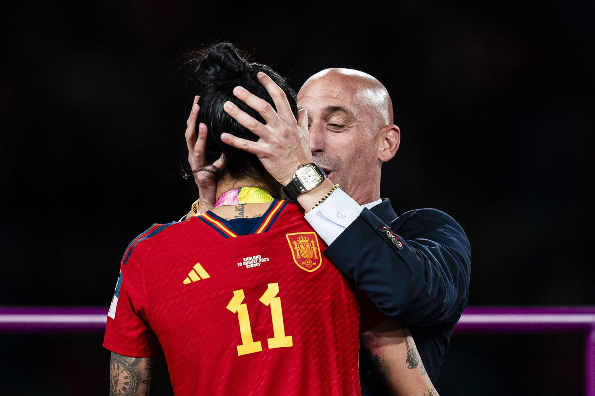
[[[285, 335], [285, 325], [283, 324], [283, 311], [281, 311], [281, 299], [277, 296], [279, 292], [278, 283], [267, 284], [267, 290], [262, 294], [259, 301], [271, 308], [271, 321], [273, 321], [273, 338], [268, 338], [268, 348], [284, 348], [293, 346], [291, 335]], [[250, 326], [250, 316], [248, 315], [248, 306], [242, 304], [245, 299], [244, 289], [234, 290], [233, 297], [227, 304], [227, 309], [232, 313], [237, 313], [237, 319], [240, 322], [240, 334], [242, 335], [242, 344], [236, 346], [237, 356], [262, 351], [260, 341], [254, 341], [252, 337], [252, 327]]]

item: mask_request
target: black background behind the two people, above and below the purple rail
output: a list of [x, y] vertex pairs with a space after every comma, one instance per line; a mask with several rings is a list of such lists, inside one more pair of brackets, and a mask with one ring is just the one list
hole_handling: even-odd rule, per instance
[[[595, 305], [594, 21], [590, 1], [3, 4], [0, 306], [107, 308], [130, 240], [187, 212], [180, 66], [220, 40], [296, 91], [333, 66], [386, 85], [383, 196], [461, 223], [469, 305]], [[101, 340], [0, 334], [0, 394], [107, 394]], [[437, 389], [581, 394], [582, 362], [578, 334], [455, 335]]]

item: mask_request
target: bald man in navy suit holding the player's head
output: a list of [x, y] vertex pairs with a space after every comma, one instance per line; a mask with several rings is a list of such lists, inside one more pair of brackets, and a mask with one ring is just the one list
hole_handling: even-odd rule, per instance
[[[287, 186], [288, 198], [302, 205], [306, 220], [327, 242], [325, 254], [389, 319], [365, 334], [368, 342], [371, 338], [386, 346], [375, 349], [372, 357], [381, 372], [390, 377], [391, 346], [397, 333], [402, 331], [405, 340], [409, 335], [406, 328], [399, 330], [396, 322], [400, 322], [411, 331], [425, 368], [413, 350], [400, 364], [427, 373], [435, 384], [466, 305], [470, 249], [464, 231], [447, 214], [426, 208], [397, 216], [390, 202], [380, 199], [382, 164], [394, 157], [400, 143], [386, 88], [364, 72], [323, 70], [297, 94], [302, 110], [296, 120], [283, 91], [267, 75], [259, 73], [259, 79], [273, 97], [276, 111], [242, 87], [234, 88], [234, 94], [257, 110], [265, 123], [230, 102], [224, 110], [260, 139], [253, 142], [223, 134], [221, 140], [256, 154], [268, 172]], [[322, 176], [314, 187], [302, 183], [296, 190], [297, 174], [309, 163], [317, 163], [327, 177]], [[192, 169], [205, 168], [192, 153], [190, 164]], [[205, 184], [201, 173], [206, 175], [195, 173], [199, 188]], [[340, 188], [334, 188], [334, 183]], [[209, 197], [202, 192], [200, 202], [205, 205], [201, 211], [209, 209]], [[387, 394], [371, 362], [362, 360], [361, 373], [363, 394]], [[432, 391], [428, 388], [428, 394]]]

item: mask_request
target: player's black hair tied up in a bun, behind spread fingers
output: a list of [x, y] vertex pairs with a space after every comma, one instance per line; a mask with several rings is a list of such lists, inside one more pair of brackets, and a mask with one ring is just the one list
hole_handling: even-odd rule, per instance
[[287, 81], [266, 65], [248, 62], [242, 58], [237, 49], [230, 43], [218, 43], [208, 49], [191, 55], [190, 83], [196, 92], [201, 95], [199, 105], [201, 110], [198, 115], [199, 122], [206, 124], [209, 134], [206, 144], [206, 160], [213, 163], [221, 154], [226, 158], [224, 172], [233, 178], [250, 176], [261, 179], [268, 175], [258, 158], [238, 150], [221, 141], [221, 134], [228, 132], [240, 138], [256, 141], [258, 136], [240, 125], [236, 120], [227, 115], [223, 110], [225, 102], [232, 102], [244, 112], [248, 113], [259, 122], [264, 119], [242, 100], [237, 99], [232, 90], [237, 85], [248, 89], [251, 93], [266, 100], [273, 107], [273, 99], [267, 90], [259, 83], [256, 73], [265, 72], [277, 85], [279, 85], [289, 100], [293, 115], [297, 117], [297, 99]]

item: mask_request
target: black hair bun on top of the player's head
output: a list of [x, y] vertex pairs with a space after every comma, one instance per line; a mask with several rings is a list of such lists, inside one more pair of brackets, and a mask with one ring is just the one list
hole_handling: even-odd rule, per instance
[[203, 52], [196, 67], [196, 78], [213, 87], [234, 86], [252, 68], [230, 43], [218, 43]]

